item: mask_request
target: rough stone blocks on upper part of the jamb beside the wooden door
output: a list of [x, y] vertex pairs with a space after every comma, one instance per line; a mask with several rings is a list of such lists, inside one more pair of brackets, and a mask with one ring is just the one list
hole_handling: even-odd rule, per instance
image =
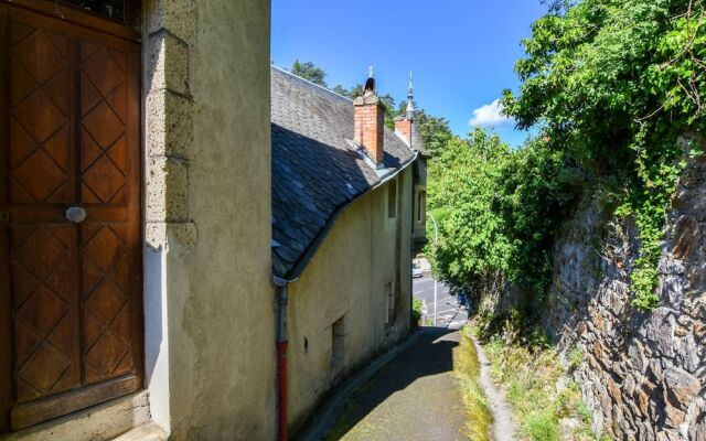
[[168, 238], [193, 247], [196, 229], [188, 208], [193, 160], [189, 53], [196, 9], [191, 0], [153, 0], [146, 10], [146, 241], [154, 249], [167, 248]]

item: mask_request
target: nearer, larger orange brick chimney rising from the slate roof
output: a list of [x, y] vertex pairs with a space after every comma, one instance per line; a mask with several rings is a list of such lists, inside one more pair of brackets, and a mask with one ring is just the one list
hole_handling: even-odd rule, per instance
[[[371, 71], [372, 72], [372, 71]], [[375, 79], [372, 74], [365, 82], [365, 92], [362, 97], [353, 100], [354, 112], [354, 141], [365, 149], [370, 159], [378, 169], [384, 166], [384, 133], [385, 133], [385, 105], [375, 94]]]

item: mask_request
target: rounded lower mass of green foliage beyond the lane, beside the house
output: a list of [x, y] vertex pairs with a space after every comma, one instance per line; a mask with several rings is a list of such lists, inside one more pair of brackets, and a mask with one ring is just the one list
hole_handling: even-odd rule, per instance
[[429, 207], [442, 236], [430, 246], [437, 271], [457, 286], [480, 290], [502, 279], [543, 293], [576, 183], [580, 173], [545, 141], [511, 150], [483, 129], [453, 137], [429, 165]]

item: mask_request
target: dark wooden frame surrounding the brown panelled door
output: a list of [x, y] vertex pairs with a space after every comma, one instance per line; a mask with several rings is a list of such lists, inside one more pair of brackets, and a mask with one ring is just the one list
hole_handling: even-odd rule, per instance
[[[116, 20], [99, 17], [92, 12], [83, 11], [74, 6], [63, 3], [61, 1], [51, 0], [0, 0], [0, 146], [6, 146], [4, 150], [0, 150], [0, 434], [21, 430], [40, 422], [68, 415], [71, 412], [96, 406], [108, 400], [138, 391], [145, 387], [145, 318], [143, 318], [143, 268], [142, 268], [142, 248], [143, 248], [143, 228], [145, 228], [145, 148], [143, 148], [143, 123], [142, 123], [142, 54], [141, 54], [141, 34], [137, 24], [140, 17], [140, 0], [126, 0], [126, 21], [121, 23]], [[130, 72], [128, 80], [128, 94], [137, 98], [136, 103], [128, 103], [128, 112], [135, 118], [135, 143], [139, 151], [136, 154], [137, 160], [133, 162], [133, 173], [137, 182], [129, 193], [129, 197], [137, 204], [137, 213], [139, 219], [137, 222], [135, 249], [130, 248], [128, 252], [133, 256], [130, 270], [135, 273], [130, 278], [130, 289], [136, 292], [139, 298], [131, 304], [135, 306], [131, 320], [137, 323], [133, 329], [136, 335], [131, 336], [132, 342], [139, 343], [133, 346], [135, 367], [137, 374], [127, 374], [121, 377], [111, 378], [96, 385], [84, 386], [78, 389], [68, 390], [51, 397], [39, 399], [36, 401], [13, 406], [14, 401], [14, 384], [13, 384], [13, 331], [12, 331], [12, 271], [10, 261], [10, 222], [6, 220], [2, 215], [9, 212], [9, 96], [7, 96], [10, 78], [9, 78], [9, 52], [8, 52], [8, 25], [9, 25], [9, 8], [24, 9], [31, 13], [39, 13], [53, 19], [61, 19], [56, 22], [57, 28], [73, 28], [79, 25], [82, 28], [81, 35], [109, 35], [128, 42], [129, 46], [137, 45], [133, 51], [127, 51], [126, 54], [130, 58], [129, 64], [135, 66]], [[131, 11], [131, 12], [130, 12]], [[137, 11], [137, 12], [136, 12]], [[135, 20], [130, 22], [130, 20]], [[135, 28], [133, 28], [135, 26]], [[73, 146], [77, 148], [77, 146]], [[131, 217], [135, 211], [128, 211]], [[77, 244], [81, 247], [81, 244]], [[81, 248], [77, 250], [81, 252]], [[77, 271], [81, 271], [77, 268]], [[83, 292], [83, 288], [79, 289]], [[83, 294], [81, 294], [83, 295]], [[83, 303], [83, 300], [79, 300]], [[83, 354], [82, 354], [83, 357]], [[4, 391], [10, 391], [6, 394]]]

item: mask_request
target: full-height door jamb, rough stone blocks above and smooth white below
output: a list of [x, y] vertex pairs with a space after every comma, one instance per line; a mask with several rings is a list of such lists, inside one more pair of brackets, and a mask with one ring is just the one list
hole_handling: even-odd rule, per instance
[[197, 236], [186, 200], [193, 157], [189, 51], [196, 6], [193, 0], [147, 0], [143, 12], [145, 386], [152, 421], [170, 432], [168, 275], [181, 265], [174, 254], [188, 254]]

